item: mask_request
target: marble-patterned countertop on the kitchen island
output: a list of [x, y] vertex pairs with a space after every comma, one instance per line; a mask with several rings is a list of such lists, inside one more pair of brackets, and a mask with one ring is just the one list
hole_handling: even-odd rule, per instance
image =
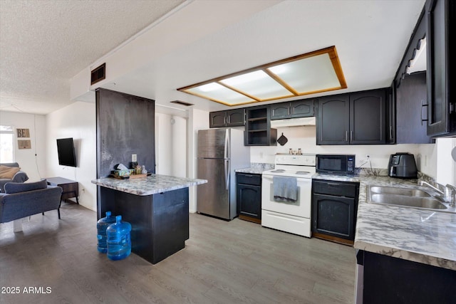
[[93, 179], [93, 184], [136, 195], [151, 195], [207, 183], [207, 179], [189, 179], [170, 175], [151, 174], [137, 179], [103, 177]]

